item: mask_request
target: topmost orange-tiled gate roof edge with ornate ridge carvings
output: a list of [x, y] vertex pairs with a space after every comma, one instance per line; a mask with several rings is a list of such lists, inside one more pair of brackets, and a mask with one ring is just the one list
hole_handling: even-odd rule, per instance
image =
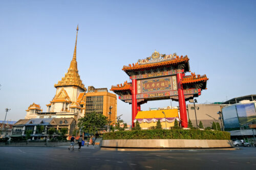
[[178, 64], [181, 62], [188, 62], [189, 58], [186, 56], [177, 56], [176, 53], [173, 55], [165, 55], [160, 54], [158, 52], [154, 52], [151, 57], [147, 57], [146, 59], [138, 60], [137, 63], [129, 64], [129, 66], [123, 66], [122, 70], [137, 70], [143, 68], [151, 68], [156, 66], [164, 66], [169, 64]]

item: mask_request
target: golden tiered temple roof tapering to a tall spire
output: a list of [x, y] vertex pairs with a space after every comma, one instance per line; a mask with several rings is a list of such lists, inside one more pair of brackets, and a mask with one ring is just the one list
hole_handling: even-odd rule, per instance
[[54, 84], [54, 87], [78, 86], [86, 91], [86, 87], [84, 87], [84, 84], [82, 84], [82, 81], [80, 79], [80, 76], [78, 74], [78, 69], [77, 69], [77, 61], [76, 61], [77, 33], [78, 33], [78, 25], [76, 28], [76, 42], [75, 42], [74, 54], [73, 54], [72, 61], [70, 62], [68, 72], [65, 74], [64, 78], [63, 77], [61, 78], [61, 81], [58, 81], [57, 84]]

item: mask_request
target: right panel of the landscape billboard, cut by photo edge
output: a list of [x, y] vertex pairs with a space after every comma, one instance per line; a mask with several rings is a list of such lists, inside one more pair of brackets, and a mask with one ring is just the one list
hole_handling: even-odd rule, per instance
[[254, 103], [237, 105], [237, 113], [241, 126], [256, 124], [256, 111]]

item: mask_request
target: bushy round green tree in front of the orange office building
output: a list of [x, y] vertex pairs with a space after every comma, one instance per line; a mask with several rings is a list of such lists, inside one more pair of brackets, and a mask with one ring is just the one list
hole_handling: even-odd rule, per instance
[[98, 113], [88, 113], [84, 117], [78, 119], [78, 127], [83, 132], [95, 134], [100, 128], [104, 128], [108, 124], [108, 117]]

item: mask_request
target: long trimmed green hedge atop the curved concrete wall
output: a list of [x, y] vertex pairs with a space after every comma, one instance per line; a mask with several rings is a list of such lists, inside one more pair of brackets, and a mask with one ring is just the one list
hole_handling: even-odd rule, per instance
[[103, 140], [108, 139], [219, 139], [230, 140], [230, 133], [211, 130], [135, 130], [135, 131], [116, 131], [104, 133]]

